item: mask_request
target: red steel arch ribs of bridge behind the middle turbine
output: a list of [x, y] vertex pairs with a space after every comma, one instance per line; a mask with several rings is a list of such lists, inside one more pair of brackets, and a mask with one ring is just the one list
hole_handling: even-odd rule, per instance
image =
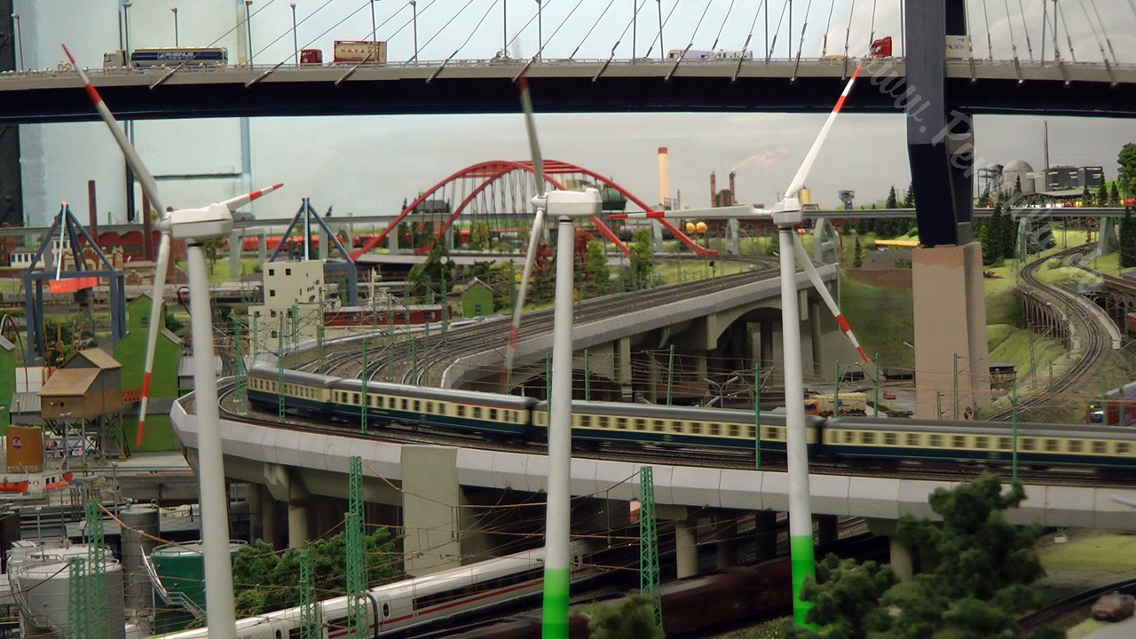
[[[400, 223], [407, 219], [415, 211], [421, 214], [423, 211], [419, 210], [420, 207], [431, 208], [429, 204], [434, 200], [441, 199], [442, 201], [457, 201], [458, 204], [452, 208], [452, 210], [446, 209], [444, 211], [445, 215], [444, 221], [440, 221], [440, 223], [434, 224], [434, 229], [432, 230], [433, 240], [428, 242], [426, 246], [417, 248], [415, 252], [418, 254], [428, 252], [434, 242], [441, 241], [445, 236], [445, 234], [450, 231], [450, 229], [453, 226], [454, 222], [461, 214], [469, 213], [470, 210], [477, 210], [477, 206], [484, 205], [486, 198], [493, 198], [496, 194], [495, 191], [499, 189], [509, 190], [511, 186], [513, 191], [512, 194], [520, 196], [519, 201], [523, 202], [524, 210], [527, 213], [528, 207], [531, 206], [529, 200], [533, 196], [536, 194], [535, 192], [532, 192], [533, 181], [526, 180], [527, 184], [529, 185], [528, 190], [526, 191], [525, 189], [521, 188], [521, 190], [518, 192], [517, 185], [510, 184], [509, 180], [510, 174], [513, 174], [516, 172], [532, 174], [534, 173], [533, 164], [528, 160], [521, 160], [521, 161], [491, 160], [468, 166], [445, 177], [434, 186], [424, 191], [414, 201], [408, 204], [399, 214], [399, 216], [395, 217], [394, 221], [391, 222], [391, 224], [389, 224], [387, 227], [384, 229], [382, 233], [370, 238], [367, 242], [362, 244], [362, 247], [353, 251], [351, 254], [351, 258], [358, 259], [361, 255], [382, 244], [384, 241], [386, 241], [387, 236], [398, 229]], [[576, 183], [573, 183], [571, 176], [578, 176], [575, 180]], [[551, 184], [556, 189], [560, 190], [575, 189], [576, 186], [578, 186], [578, 183], [583, 181], [584, 176], [594, 180], [596, 184], [615, 190], [620, 196], [623, 196], [628, 201], [640, 207], [644, 211], [653, 210], [653, 208], [650, 205], [637, 198], [634, 193], [632, 193], [617, 182], [608, 177], [604, 177], [593, 171], [560, 160], [545, 160], [544, 163], [544, 181]], [[460, 193], [460, 198], [452, 197], [450, 200], [446, 200], [445, 197], [446, 193], [450, 193], [451, 196], [457, 194], [458, 190], [457, 185], [463, 183], [468, 183], [469, 185], [462, 190], [462, 192]], [[441, 198], [438, 198], [438, 196], [441, 196]], [[601, 234], [603, 234], [612, 243], [615, 243], [615, 246], [618, 247], [619, 250], [624, 252], [624, 255], [629, 255], [629, 249], [627, 248], [627, 246], [602, 219], [600, 219], [599, 217], [592, 217], [591, 219], [592, 224], [595, 225], [595, 229]], [[717, 255], [716, 251], [710, 251], [699, 246], [695, 241], [693, 241], [690, 236], [679, 231], [678, 227], [674, 226], [670, 222], [666, 219], [658, 219], [658, 222], [662, 224], [668, 231], [670, 231], [675, 235], [675, 238], [677, 238], [680, 242], [683, 242], [691, 250], [693, 250], [696, 255], [702, 255], [702, 256]]]

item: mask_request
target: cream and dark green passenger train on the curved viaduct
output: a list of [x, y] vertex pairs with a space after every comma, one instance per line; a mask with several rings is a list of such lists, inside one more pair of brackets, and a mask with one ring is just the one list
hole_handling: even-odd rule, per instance
[[[275, 412], [279, 395], [290, 410], [358, 421], [364, 403], [367, 418], [421, 424], [488, 438], [545, 441], [549, 405], [528, 397], [454, 389], [344, 380], [254, 364], [248, 375], [249, 399]], [[785, 454], [785, 416], [762, 413], [761, 450]], [[754, 449], [752, 410], [691, 408], [624, 403], [573, 401], [573, 441], [601, 445], [712, 447]], [[1050, 424], [933, 420], [808, 416], [807, 446], [818, 458], [855, 458], [896, 463], [1009, 464], [1017, 451], [1030, 466], [1086, 466], [1136, 471], [1136, 431], [1101, 426], [1092, 430]]]

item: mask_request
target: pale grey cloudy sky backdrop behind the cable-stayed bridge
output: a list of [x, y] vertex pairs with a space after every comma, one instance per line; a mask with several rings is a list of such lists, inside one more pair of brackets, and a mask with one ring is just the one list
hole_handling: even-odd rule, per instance
[[[971, 0], [975, 56], [1022, 59], [1042, 55], [1044, 0]], [[119, 48], [122, 17], [130, 17], [132, 47], [174, 44], [174, 13], [182, 45], [223, 45], [231, 64], [245, 51], [243, 0], [137, 0], [124, 11], [120, 0], [15, 0], [20, 14], [25, 66], [53, 68], [66, 42], [81, 65], [99, 67], [102, 53]], [[371, 8], [377, 38], [389, 42], [389, 58], [415, 55], [412, 8], [400, 0], [299, 0], [295, 42], [329, 58], [334, 40], [369, 39]], [[1047, 5], [1046, 5], [1047, 6]], [[532, 0], [418, 0], [418, 58], [490, 58], [507, 43], [513, 56], [529, 56], [538, 41], [537, 3]], [[541, 32], [549, 58], [658, 56], [659, 8], [665, 20], [662, 49], [750, 49], [762, 56], [767, 38], [763, 2], [741, 0], [544, 0]], [[638, 14], [633, 20], [633, 7]], [[774, 57], [800, 47], [803, 57], [862, 55], [871, 40], [892, 35], [902, 55], [899, 0], [795, 0], [792, 35], [787, 0], [769, 2], [768, 39]], [[1047, 6], [1052, 11], [1053, 7]], [[507, 9], [508, 15], [504, 15]], [[1060, 3], [1058, 47], [1069, 59], [1101, 60], [1110, 41], [1120, 63], [1136, 63], [1136, 15], [1127, 0], [1070, 0]], [[293, 56], [293, 11], [284, 0], [250, 6], [252, 57], [257, 65]], [[850, 17], [851, 16], [851, 22]], [[1097, 19], [1100, 16], [1100, 19]], [[801, 39], [802, 23], [807, 23]], [[634, 28], [633, 28], [634, 25]], [[779, 25], [779, 26], [778, 26]], [[988, 26], [987, 26], [988, 25]], [[506, 31], [507, 28], [507, 31]], [[634, 32], [634, 35], [633, 35]], [[1028, 33], [1028, 42], [1027, 42]], [[1052, 28], [1045, 56], [1052, 59]], [[826, 39], [827, 36], [827, 39]], [[1105, 40], [1108, 36], [1108, 41]], [[792, 40], [792, 49], [790, 49]], [[617, 45], [618, 43], [618, 45]], [[860, 83], [855, 91], [875, 91]], [[833, 99], [835, 101], [836, 94]], [[114, 110], [114, 105], [109, 107]], [[518, 108], [519, 111], [519, 108]], [[779, 114], [537, 114], [545, 158], [586, 166], [609, 175], [648, 202], [658, 200], [658, 147], [670, 150], [671, 197], [686, 206], [708, 206], [709, 175], [719, 186], [737, 171], [741, 201], [771, 204], [788, 183], [824, 116]], [[1116, 175], [1116, 158], [1136, 142], [1136, 123], [1103, 118], [1047, 118], [1053, 165], [1103, 165]], [[980, 116], [975, 123], [983, 164], [1025, 159], [1043, 165], [1041, 117]], [[283, 181], [279, 193], [256, 204], [261, 218], [291, 216], [308, 196], [320, 211], [336, 215], [394, 214], [406, 199], [460, 168], [488, 159], [527, 159], [523, 118], [517, 114], [477, 116], [367, 116], [256, 118], [252, 131], [253, 186]], [[86, 210], [86, 181], [99, 185], [100, 219], [125, 219], [120, 155], [102, 124], [49, 124], [20, 127], [25, 207], [28, 222], [42, 224], [59, 202]], [[241, 166], [236, 119], [140, 122], [136, 146], [151, 172], [228, 173]], [[822, 205], [836, 205], [841, 189], [857, 191], [858, 202], [883, 200], [889, 186], [910, 181], [903, 117], [847, 115], [834, 127], [808, 185]], [[240, 180], [195, 180], [160, 184], [167, 204], [200, 206], [242, 190]]]

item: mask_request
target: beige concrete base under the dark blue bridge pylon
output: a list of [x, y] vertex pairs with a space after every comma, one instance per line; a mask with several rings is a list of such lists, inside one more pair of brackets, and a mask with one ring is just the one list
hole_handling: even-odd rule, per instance
[[939, 418], [937, 392], [944, 398], [945, 416], [953, 417], [958, 388], [959, 416], [966, 418], [991, 401], [982, 246], [916, 249], [911, 256], [919, 381], [916, 416]]

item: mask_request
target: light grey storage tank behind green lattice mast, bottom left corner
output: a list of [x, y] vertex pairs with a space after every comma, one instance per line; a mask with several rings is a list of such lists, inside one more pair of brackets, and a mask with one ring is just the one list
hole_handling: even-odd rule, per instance
[[[109, 550], [107, 551], [109, 556]], [[107, 601], [106, 625], [93, 637], [106, 639], [123, 639], [125, 636], [125, 616], [123, 614], [123, 572], [114, 559], [103, 562], [105, 578], [103, 597]], [[59, 632], [70, 636], [70, 611], [68, 608], [72, 583], [70, 564], [62, 562], [32, 564], [19, 566], [15, 573], [19, 596], [24, 599], [22, 612], [30, 619], [24, 619], [25, 634], [27, 631], [51, 636]], [[98, 619], [91, 620], [98, 623]]]

